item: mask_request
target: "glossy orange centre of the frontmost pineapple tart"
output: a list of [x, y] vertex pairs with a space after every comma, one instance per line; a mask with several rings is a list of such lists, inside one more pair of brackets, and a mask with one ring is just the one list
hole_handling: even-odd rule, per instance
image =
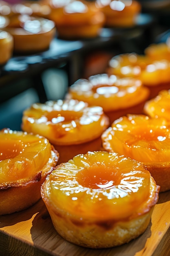
[[117, 185], [117, 171], [105, 165], [93, 165], [77, 173], [77, 182], [91, 189], [107, 189]]

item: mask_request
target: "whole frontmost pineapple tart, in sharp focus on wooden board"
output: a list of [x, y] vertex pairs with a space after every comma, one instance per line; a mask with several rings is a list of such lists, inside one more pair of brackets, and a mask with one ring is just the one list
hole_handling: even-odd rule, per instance
[[83, 247], [107, 248], [146, 230], [159, 186], [141, 163], [94, 151], [57, 165], [41, 195], [60, 236]]

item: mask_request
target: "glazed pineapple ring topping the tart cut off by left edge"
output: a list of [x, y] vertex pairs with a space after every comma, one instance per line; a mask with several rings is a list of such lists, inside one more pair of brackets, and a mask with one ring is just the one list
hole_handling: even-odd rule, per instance
[[0, 141], [0, 187], [29, 180], [41, 173], [46, 164], [57, 163], [51, 144], [42, 136], [3, 129]]

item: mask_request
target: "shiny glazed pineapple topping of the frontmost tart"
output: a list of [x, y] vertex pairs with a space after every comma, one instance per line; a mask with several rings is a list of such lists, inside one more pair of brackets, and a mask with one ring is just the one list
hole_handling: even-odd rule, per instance
[[150, 173], [142, 164], [102, 151], [58, 165], [46, 183], [47, 196], [61, 214], [69, 212], [73, 220], [81, 216], [77, 226], [89, 218], [108, 229], [109, 220], [130, 218], [150, 197]]

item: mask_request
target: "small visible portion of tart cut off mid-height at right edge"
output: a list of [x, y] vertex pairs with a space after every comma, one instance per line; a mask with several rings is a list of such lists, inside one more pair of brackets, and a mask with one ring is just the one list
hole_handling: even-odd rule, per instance
[[144, 112], [150, 117], [163, 117], [170, 122], [170, 90], [162, 90], [144, 105]]

